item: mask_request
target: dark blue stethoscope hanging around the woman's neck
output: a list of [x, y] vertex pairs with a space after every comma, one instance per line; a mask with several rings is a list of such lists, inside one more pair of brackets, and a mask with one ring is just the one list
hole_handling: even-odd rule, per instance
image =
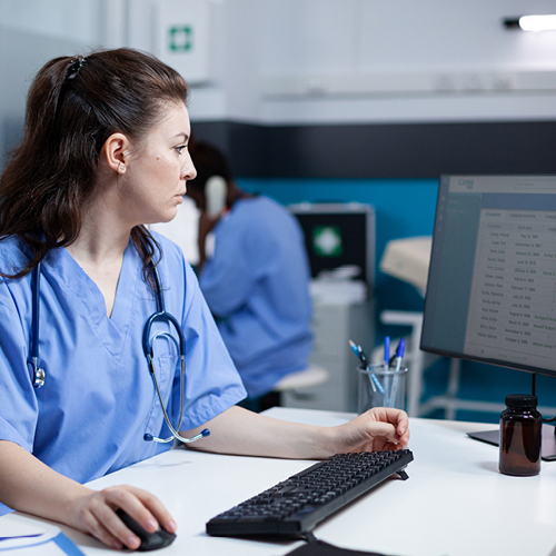
[[[157, 295], [157, 311], [153, 312], [148, 319], [147, 322], [145, 324], [143, 330], [142, 330], [142, 350], [145, 353], [145, 356], [147, 357], [147, 361], [149, 364], [149, 373], [150, 376], [152, 377], [152, 381], [155, 384], [155, 388], [158, 394], [158, 399], [160, 401], [160, 407], [162, 408], [162, 413], [165, 415], [165, 420], [166, 424], [168, 425], [168, 428], [170, 429], [172, 436], [168, 438], [158, 438], [156, 436], [152, 436], [150, 434], [145, 434], [143, 439], [147, 441], [155, 441], [155, 443], [169, 443], [172, 441], [173, 439], [179, 440], [181, 443], [195, 443], [195, 440], [199, 440], [200, 438], [203, 438], [205, 436], [210, 435], [210, 430], [208, 428], [201, 430], [198, 435], [193, 436], [192, 438], [185, 438], [180, 436], [178, 433], [180, 427], [181, 427], [181, 421], [183, 419], [183, 384], [186, 380], [186, 337], [183, 335], [183, 331], [181, 330], [181, 327], [176, 319], [173, 315], [170, 315], [169, 312], [166, 311], [165, 309], [165, 298], [162, 294], [162, 286], [160, 284], [160, 276], [158, 274], [157, 267], [150, 262], [149, 264], [150, 270], [152, 272], [152, 276], [155, 278], [155, 286], [156, 286], [156, 295]], [[32, 292], [32, 319], [31, 319], [31, 348], [30, 348], [30, 357], [28, 360], [28, 365], [31, 366], [31, 378], [33, 381], [34, 388], [41, 388], [44, 385], [44, 379], [47, 374], [44, 373], [44, 369], [39, 367], [39, 317], [40, 317], [40, 304], [39, 304], [39, 295], [40, 295], [40, 262], [33, 268], [32, 270], [32, 281], [31, 281], [31, 292]], [[160, 331], [155, 334], [151, 337], [151, 328], [155, 322], [168, 322], [173, 327], [176, 332], [178, 334], [179, 337], [179, 342], [176, 340], [176, 338], [168, 331]], [[153, 349], [153, 344], [155, 340], [161, 337], [169, 338], [176, 346], [179, 356], [180, 356], [180, 365], [181, 365], [181, 371], [180, 371], [180, 395], [179, 395], [179, 423], [177, 429], [172, 427], [170, 423], [170, 418], [168, 417], [168, 414], [165, 408], [165, 403], [162, 400], [162, 394], [160, 393], [160, 387], [158, 386], [158, 380], [157, 380], [157, 374], [155, 373], [155, 349]]]

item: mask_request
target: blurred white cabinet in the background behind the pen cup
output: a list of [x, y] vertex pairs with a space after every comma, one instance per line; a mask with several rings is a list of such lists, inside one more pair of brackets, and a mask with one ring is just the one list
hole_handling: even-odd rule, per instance
[[319, 386], [284, 391], [282, 406], [356, 411], [358, 360], [348, 340], [360, 345], [370, 356], [375, 345], [374, 304], [316, 304], [312, 329], [311, 363], [324, 367], [329, 378]]

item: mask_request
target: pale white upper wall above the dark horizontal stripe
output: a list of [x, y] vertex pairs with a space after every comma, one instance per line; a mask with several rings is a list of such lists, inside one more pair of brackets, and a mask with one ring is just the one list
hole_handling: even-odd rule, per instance
[[[131, 46], [150, 48], [152, 10], [161, 1], [129, 0]], [[214, 78], [193, 87], [192, 119], [556, 117], [556, 32], [502, 24], [505, 17], [554, 12], [554, 0], [207, 1], [214, 6]]]

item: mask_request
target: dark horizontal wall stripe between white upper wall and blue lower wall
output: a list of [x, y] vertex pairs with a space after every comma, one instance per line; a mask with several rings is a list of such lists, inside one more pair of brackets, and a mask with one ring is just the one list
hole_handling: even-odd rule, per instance
[[246, 178], [556, 173], [556, 121], [258, 126], [192, 122]]

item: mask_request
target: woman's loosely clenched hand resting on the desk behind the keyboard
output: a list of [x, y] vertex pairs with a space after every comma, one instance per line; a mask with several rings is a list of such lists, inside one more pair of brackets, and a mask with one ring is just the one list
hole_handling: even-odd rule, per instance
[[400, 409], [375, 407], [332, 429], [334, 450], [398, 450], [409, 441], [409, 420]]

